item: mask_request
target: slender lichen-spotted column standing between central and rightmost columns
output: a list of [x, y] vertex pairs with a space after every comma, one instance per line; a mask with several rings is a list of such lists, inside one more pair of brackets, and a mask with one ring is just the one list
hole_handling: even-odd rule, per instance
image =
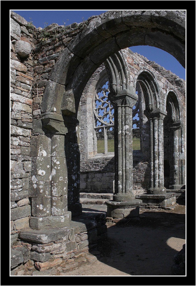
[[166, 113], [157, 108], [149, 114], [151, 180], [148, 194], [165, 194], [163, 170], [163, 119]]

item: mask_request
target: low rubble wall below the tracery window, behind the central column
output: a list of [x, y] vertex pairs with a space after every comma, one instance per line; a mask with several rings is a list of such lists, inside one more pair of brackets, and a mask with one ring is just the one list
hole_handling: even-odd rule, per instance
[[[80, 192], [113, 193], [114, 157], [95, 156], [85, 163], [80, 172]], [[147, 190], [149, 178], [149, 163], [146, 156], [138, 150], [133, 150], [134, 194], [141, 194]]]

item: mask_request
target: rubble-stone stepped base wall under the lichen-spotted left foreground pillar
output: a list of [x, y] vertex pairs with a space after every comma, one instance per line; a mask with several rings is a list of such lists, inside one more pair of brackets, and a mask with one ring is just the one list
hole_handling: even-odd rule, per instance
[[78, 257], [94, 249], [107, 236], [106, 214], [83, 214], [69, 227], [21, 231], [11, 249], [11, 271], [31, 260], [39, 271], [59, 265], [62, 260]]

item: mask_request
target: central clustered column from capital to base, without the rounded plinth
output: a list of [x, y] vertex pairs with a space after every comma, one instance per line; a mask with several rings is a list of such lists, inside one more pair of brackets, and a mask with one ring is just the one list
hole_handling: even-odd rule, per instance
[[136, 102], [136, 96], [128, 93], [112, 98], [114, 122], [116, 122], [114, 126], [116, 138], [114, 201], [134, 199], [132, 192], [132, 108]]

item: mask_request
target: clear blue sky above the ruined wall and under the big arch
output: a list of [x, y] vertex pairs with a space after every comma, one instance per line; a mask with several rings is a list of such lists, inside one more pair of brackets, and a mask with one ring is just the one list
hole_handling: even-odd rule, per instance
[[[26, 21], [32, 21], [36, 28], [44, 28], [46, 23], [50, 25], [57, 23], [58, 25], [70, 25], [74, 22], [81, 23], [93, 15], [100, 15], [106, 10], [12, 10], [21, 15]], [[67, 21], [68, 20], [68, 21]], [[174, 74], [185, 80], [185, 69], [182, 65], [169, 53], [150, 46], [134, 46], [130, 47], [133, 52], [144, 55], [150, 61], [155, 61], [159, 65], [171, 70]]]

